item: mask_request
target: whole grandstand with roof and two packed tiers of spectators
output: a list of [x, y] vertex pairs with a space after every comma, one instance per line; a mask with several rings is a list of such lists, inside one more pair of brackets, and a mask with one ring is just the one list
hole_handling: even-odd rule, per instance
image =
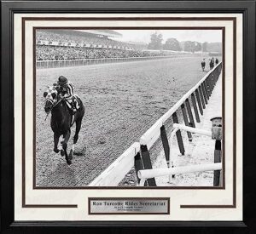
[[161, 55], [137, 49], [137, 44], [114, 40], [112, 30], [37, 30], [37, 60], [83, 60]]

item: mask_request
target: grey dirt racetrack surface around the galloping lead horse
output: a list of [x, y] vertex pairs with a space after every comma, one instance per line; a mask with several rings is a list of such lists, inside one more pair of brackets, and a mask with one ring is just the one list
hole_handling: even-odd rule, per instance
[[[207, 71], [201, 57], [37, 70], [36, 185], [88, 185]], [[73, 82], [85, 106], [71, 166], [53, 151], [50, 115], [44, 121], [44, 90], [60, 75]], [[73, 134], [74, 127], [69, 143]]]

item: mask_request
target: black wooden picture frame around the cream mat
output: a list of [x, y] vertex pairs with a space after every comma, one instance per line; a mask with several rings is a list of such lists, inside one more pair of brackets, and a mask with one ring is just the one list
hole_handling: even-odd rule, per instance
[[[251, 233], [255, 214], [255, 0], [251, 1], [4, 1], [2, 5], [1, 37], [1, 231], [3, 233], [67, 233], [92, 231], [92, 226], [150, 226], [143, 231], [225, 231]], [[86, 221], [86, 222], [14, 222], [14, 57], [13, 17], [15, 13], [242, 13], [243, 14], [243, 222], [214, 221]], [[70, 226], [70, 227], [67, 227]], [[85, 226], [86, 229], [85, 229]], [[202, 226], [198, 228], [198, 226]], [[178, 228], [177, 228], [178, 227]], [[236, 230], [235, 230], [236, 229]], [[130, 231], [129, 231], [130, 230]], [[98, 229], [98, 231], [102, 231]], [[104, 230], [105, 231], [105, 230]], [[116, 232], [117, 229], [111, 229]], [[142, 230], [140, 229], [140, 232]], [[116, 232], [117, 233], [117, 232]], [[236, 232], [237, 233], [237, 232]], [[252, 232], [253, 233], [253, 232]]]

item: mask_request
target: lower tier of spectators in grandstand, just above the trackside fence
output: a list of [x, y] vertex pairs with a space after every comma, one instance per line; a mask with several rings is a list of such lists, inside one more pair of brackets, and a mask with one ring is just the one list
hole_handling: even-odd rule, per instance
[[37, 45], [37, 60], [83, 60], [102, 58], [129, 58], [163, 55], [160, 52], [125, 49], [88, 49], [76, 47], [61, 47]]

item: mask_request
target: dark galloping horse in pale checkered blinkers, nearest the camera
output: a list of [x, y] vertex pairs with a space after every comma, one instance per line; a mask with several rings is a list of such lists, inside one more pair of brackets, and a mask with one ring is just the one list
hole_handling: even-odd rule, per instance
[[[44, 111], [49, 114], [51, 112], [50, 127], [54, 132], [55, 153], [58, 153], [58, 143], [62, 135], [64, 140], [61, 141], [62, 149], [61, 156], [65, 155], [67, 164], [70, 165], [73, 159], [74, 146], [79, 140], [79, 131], [81, 128], [82, 119], [84, 117], [84, 105], [82, 100], [76, 96], [79, 102], [79, 110], [73, 116], [73, 112], [67, 107], [66, 101], [62, 100], [55, 86], [49, 87], [47, 92], [44, 92], [45, 106]], [[76, 123], [76, 132], [73, 137], [73, 147], [67, 155], [67, 141], [70, 138], [73, 123]]]

